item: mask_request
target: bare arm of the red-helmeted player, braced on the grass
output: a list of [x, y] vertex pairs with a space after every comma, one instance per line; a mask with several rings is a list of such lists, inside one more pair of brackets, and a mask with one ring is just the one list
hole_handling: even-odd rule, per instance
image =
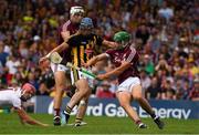
[[23, 108], [14, 108], [14, 110], [18, 113], [22, 124], [28, 123], [30, 125], [48, 126], [48, 124], [43, 124], [43, 123], [30, 117]]

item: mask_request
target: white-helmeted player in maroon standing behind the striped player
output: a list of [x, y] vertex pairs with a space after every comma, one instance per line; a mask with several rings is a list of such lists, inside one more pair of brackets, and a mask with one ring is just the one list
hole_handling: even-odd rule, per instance
[[[84, 9], [82, 7], [72, 7], [70, 10], [70, 20], [66, 21], [63, 25], [59, 28], [59, 38], [57, 38], [57, 44], [63, 43], [64, 41], [67, 41], [70, 35], [75, 34], [78, 30], [80, 22], [83, 18]], [[71, 52], [63, 50], [60, 52], [62, 58], [64, 58], [64, 61], [71, 61]], [[50, 53], [49, 53], [50, 54]], [[40, 64], [44, 63], [44, 61], [48, 60], [49, 55], [45, 55], [40, 59]], [[55, 80], [55, 87], [56, 87], [56, 94], [54, 96], [54, 118], [53, 123], [54, 125], [61, 125], [61, 117], [60, 117], [60, 108], [62, 104], [62, 96], [63, 92], [67, 91], [67, 94], [71, 89], [71, 79], [70, 79], [70, 70], [64, 64], [55, 64], [51, 63], [51, 70], [54, 73], [54, 80]], [[71, 96], [71, 95], [69, 95]], [[84, 112], [85, 107], [80, 106], [80, 112]], [[84, 113], [77, 115], [84, 115]]]

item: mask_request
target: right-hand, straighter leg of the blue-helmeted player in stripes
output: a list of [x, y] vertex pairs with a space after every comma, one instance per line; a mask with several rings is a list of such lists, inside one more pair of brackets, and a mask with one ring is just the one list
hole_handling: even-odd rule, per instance
[[75, 126], [81, 126], [82, 124], [86, 124], [83, 122], [83, 118], [86, 113], [90, 95], [91, 95], [91, 91], [86, 93], [86, 95], [81, 100], [78, 104], [76, 118], [75, 118]]

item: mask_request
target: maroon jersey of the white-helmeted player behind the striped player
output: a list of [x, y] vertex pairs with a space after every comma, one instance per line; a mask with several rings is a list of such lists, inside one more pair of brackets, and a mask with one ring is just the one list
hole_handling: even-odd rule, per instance
[[[62, 32], [64, 31], [70, 31], [70, 34], [74, 34], [76, 33], [76, 31], [78, 30], [78, 23], [72, 23], [71, 20], [66, 21], [63, 25], [61, 25], [57, 30], [57, 44], [62, 44], [64, 42], [63, 38], [62, 38]], [[71, 53], [70, 51], [63, 51], [61, 53], [62, 58], [64, 58], [64, 63], [66, 62], [71, 62]]]

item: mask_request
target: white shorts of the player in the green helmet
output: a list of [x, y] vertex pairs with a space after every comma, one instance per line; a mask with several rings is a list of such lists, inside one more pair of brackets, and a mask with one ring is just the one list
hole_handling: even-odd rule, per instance
[[121, 83], [121, 84], [118, 85], [117, 92], [124, 92], [124, 91], [125, 91], [125, 92], [132, 93], [133, 87], [134, 87], [135, 85], [140, 85], [140, 80], [139, 80], [139, 77], [128, 77], [128, 79], [126, 79], [123, 83]]

